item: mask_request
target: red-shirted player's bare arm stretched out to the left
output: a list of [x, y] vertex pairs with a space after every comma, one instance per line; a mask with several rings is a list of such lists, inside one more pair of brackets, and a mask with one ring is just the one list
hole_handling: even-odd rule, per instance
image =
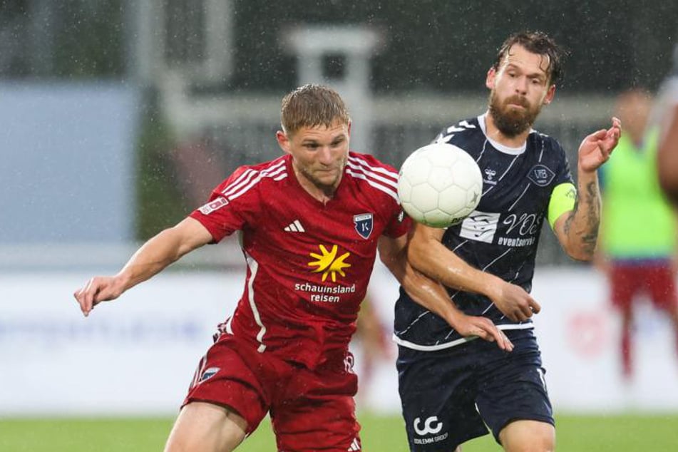
[[76, 290], [80, 309], [87, 317], [101, 302], [120, 297], [125, 290], [153, 277], [186, 253], [212, 241], [212, 235], [197, 220], [188, 217], [175, 227], [160, 232], [134, 253], [125, 267], [114, 276], [91, 278]]

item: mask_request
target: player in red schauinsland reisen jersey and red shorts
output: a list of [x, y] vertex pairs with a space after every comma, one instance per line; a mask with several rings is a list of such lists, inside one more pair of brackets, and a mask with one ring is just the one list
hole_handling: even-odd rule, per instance
[[232, 451], [266, 414], [280, 451], [360, 451], [348, 345], [377, 250], [411, 297], [461, 334], [513, 348], [406, 264], [397, 173], [349, 152], [350, 129], [335, 91], [297, 88], [282, 101], [282, 157], [238, 168], [118, 274], [74, 294], [87, 316], [197, 247], [242, 232], [242, 297], [200, 361], [165, 451]]

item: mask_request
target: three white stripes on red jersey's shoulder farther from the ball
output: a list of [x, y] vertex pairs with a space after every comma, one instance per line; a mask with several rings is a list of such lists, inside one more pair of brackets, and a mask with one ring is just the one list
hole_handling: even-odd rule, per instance
[[228, 197], [237, 197], [246, 192], [277, 184], [287, 179], [289, 155], [254, 165], [242, 165], [224, 180], [217, 190]]

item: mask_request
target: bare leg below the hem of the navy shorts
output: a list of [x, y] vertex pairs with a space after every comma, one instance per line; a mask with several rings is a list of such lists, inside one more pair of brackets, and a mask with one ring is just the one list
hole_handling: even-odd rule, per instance
[[555, 450], [555, 427], [540, 421], [513, 421], [499, 432], [506, 452], [545, 452]]

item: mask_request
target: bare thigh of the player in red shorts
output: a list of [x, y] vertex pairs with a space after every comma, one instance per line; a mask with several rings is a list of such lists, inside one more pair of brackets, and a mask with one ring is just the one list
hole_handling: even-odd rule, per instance
[[179, 412], [165, 452], [227, 452], [245, 438], [247, 421], [224, 406], [192, 402]]

